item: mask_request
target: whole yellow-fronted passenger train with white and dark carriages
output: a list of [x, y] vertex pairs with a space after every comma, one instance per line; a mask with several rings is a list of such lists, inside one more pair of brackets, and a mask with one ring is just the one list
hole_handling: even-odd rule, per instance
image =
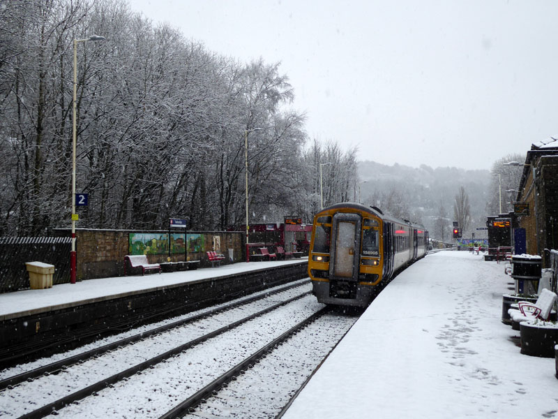
[[318, 302], [367, 307], [398, 272], [428, 253], [428, 231], [377, 207], [338, 203], [314, 217], [308, 275]]

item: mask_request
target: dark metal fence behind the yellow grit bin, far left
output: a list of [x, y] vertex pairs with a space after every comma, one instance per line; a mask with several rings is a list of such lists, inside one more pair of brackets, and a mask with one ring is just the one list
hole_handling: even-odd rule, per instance
[[0, 293], [29, 288], [26, 262], [54, 265], [52, 284], [70, 282], [70, 237], [0, 237]]

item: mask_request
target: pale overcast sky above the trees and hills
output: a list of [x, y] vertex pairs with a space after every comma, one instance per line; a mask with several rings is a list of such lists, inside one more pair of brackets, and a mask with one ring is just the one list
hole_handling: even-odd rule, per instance
[[558, 1], [130, 0], [208, 50], [281, 62], [310, 138], [489, 169], [558, 135]]

